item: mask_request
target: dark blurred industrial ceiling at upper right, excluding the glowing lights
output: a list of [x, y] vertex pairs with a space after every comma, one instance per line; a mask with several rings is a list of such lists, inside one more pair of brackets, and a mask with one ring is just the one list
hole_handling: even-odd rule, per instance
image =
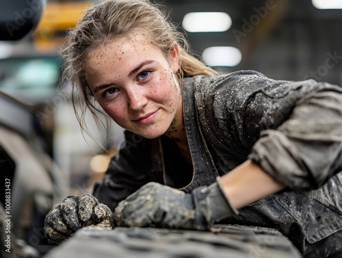
[[231, 46], [242, 53], [234, 67], [274, 79], [316, 79], [342, 85], [342, 10], [319, 10], [311, 0], [155, 0], [181, 26], [188, 12], [226, 12], [228, 31], [189, 33], [198, 55], [207, 47]]

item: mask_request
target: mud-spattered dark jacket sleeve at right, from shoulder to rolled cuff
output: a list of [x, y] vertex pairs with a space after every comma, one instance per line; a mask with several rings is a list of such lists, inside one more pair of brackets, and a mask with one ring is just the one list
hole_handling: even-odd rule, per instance
[[[206, 103], [226, 149], [287, 187], [311, 190], [342, 170], [342, 89], [317, 81], [276, 81], [241, 71], [211, 81]], [[223, 107], [223, 108], [222, 108]], [[207, 116], [208, 118], [209, 116]]]

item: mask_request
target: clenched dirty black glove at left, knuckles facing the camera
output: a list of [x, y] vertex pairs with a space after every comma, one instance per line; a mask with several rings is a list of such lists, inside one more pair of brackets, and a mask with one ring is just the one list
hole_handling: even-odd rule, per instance
[[59, 244], [82, 227], [94, 224], [110, 227], [111, 215], [109, 207], [99, 203], [92, 194], [68, 196], [47, 214], [45, 236], [50, 244]]

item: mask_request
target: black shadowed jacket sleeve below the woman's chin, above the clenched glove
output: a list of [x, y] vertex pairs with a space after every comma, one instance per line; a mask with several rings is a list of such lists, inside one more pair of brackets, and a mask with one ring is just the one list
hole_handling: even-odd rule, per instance
[[94, 187], [94, 196], [111, 210], [151, 181], [146, 172], [149, 159], [144, 156], [148, 155], [146, 139], [129, 131], [125, 131], [124, 136], [120, 151], [112, 157], [103, 180]]

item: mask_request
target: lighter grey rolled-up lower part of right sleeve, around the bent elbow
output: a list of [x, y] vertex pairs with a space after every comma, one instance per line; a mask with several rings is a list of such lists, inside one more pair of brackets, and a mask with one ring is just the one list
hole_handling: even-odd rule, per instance
[[327, 83], [311, 83], [315, 90], [295, 101], [279, 127], [261, 131], [249, 155], [298, 191], [318, 188], [342, 170], [342, 92]]

